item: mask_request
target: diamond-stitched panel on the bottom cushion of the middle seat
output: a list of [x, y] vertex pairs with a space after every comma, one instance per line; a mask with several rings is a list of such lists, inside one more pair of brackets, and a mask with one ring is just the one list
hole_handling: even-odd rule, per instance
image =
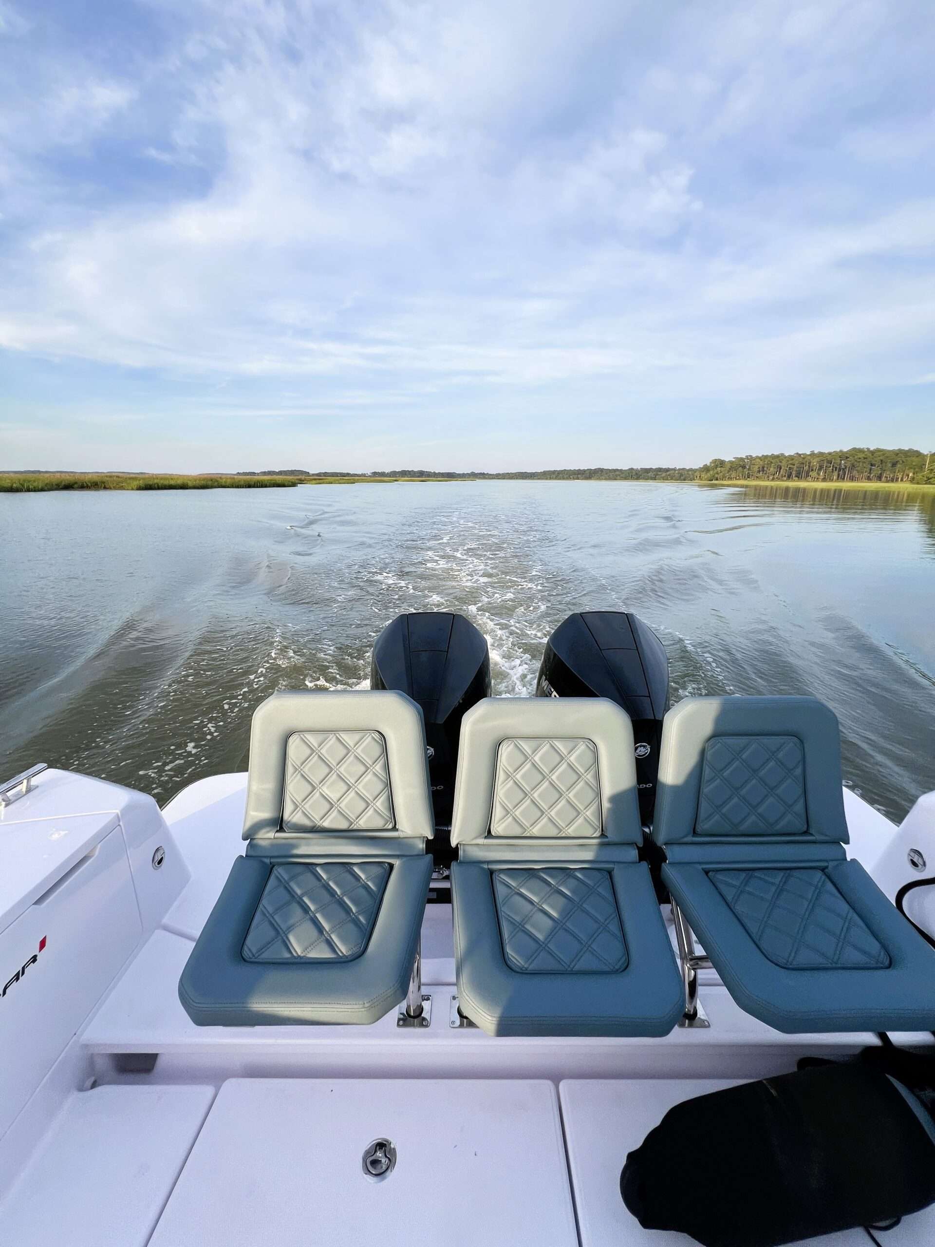
[[506, 964], [526, 974], [615, 974], [627, 945], [607, 870], [494, 870]]

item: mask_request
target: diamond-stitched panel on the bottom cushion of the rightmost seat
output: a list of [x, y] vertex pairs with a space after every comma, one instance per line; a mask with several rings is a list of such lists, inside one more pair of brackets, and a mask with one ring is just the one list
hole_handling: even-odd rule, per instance
[[785, 969], [885, 969], [889, 955], [823, 870], [711, 870], [770, 961]]

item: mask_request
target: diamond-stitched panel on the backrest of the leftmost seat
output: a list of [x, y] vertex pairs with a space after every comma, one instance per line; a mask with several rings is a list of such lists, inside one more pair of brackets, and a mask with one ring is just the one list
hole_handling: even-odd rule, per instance
[[294, 732], [285, 746], [285, 832], [391, 831], [386, 746], [379, 732]]

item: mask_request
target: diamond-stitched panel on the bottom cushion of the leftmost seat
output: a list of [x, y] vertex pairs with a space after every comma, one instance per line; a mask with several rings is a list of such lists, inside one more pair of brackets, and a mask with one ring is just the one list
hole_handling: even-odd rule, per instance
[[388, 862], [276, 865], [243, 941], [246, 961], [350, 960], [370, 939]]

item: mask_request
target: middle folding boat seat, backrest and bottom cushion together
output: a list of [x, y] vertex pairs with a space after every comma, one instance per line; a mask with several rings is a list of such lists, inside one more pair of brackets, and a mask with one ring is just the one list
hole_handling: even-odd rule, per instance
[[487, 698], [470, 710], [451, 826], [463, 1014], [490, 1035], [666, 1035], [682, 983], [641, 835], [618, 706]]

